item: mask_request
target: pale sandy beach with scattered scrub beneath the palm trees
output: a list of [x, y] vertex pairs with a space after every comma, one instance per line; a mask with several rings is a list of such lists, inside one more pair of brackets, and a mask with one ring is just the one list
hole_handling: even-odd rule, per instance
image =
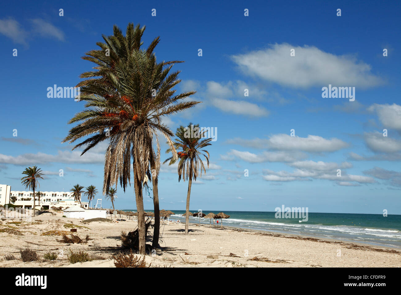
[[[62, 213], [45, 213], [29, 222], [3, 220], [0, 224], [0, 267], [114, 267], [113, 254], [121, 246], [120, 233], [136, 227], [135, 220], [90, 222], [63, 218]], [[67, 225], [66, 225], [67, 224]], [[146, 256], [154, 267], [400, 267], [401, 251], [334, 240], [257, 232], [236, 228], [190, 224], [162, 226], [161, 251]], [[61, 236], [51, 231], [76, 234], [85, 244], [64, 244]], [[151, 229], [151, 232], [153, 230]], [[150, 241], [148, 242], [150, 243]], [[57, 260], [22, 262], [6, 260], [12, 254], [20, 258], [20, 250], [35, 250], [39, 258], [49, 251], [59, 253]], [[71, 264], [70, 249], [87, 252], [92, 261]], [[339, 255], [340, 254], [340, 255]]]

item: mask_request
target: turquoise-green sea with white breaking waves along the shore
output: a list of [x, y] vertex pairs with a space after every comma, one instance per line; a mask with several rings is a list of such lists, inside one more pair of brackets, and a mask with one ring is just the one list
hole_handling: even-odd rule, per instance
[[[123, 211], [135, 212], [136, 210]], [[153, 212], [153, 210], [145, 211]], [[175, 214], [170, 215], [170, 220], [185, 222], [185, 216], [182, 216], [185, 211], [171, 211]], [[215, 214], [219, 212], [221, 211], [213, 211]], [[223, 219], [223, 226], [401, 248], [401, 215], [309, 212], [308, 221], [302, 221], [302, 218], [275, 218], [276, 212], [223, 212], [230, 216]], [[203, 213], [209, 214], [210, 211], [203, 211]], [[190, 216], [190, 222], [201, 224], [211, 222], [213, 225], [213, 219], [192, 216]], [[220, 224], [221, 220], [219, 220]]]

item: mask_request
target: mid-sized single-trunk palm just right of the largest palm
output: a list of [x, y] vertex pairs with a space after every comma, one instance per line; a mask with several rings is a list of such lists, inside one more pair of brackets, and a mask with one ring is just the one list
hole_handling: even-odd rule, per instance
[[[196, 129], [197, 128], [197, 129]], [[195, 132], [192, 132], [194, 130]], [[178, 162], [178, 182], [181, 180], [188, 180], [188, 193], [186, 194], [186, 214], [185, 214], [185, 233], [188, 234], [188, 226], [189, 226], [189, 198], [191, 194], [191, 186], [192, 186], [192, 178], [196, 181], [196, 177], [201, 174], [199, 177], [202, 177], [202, 170], [205, 171], [205, 166], [203, 165], [203, 161], [201, 159], [201, 155], [206, 158], [207, 167], [209, 168], [209, 152], [204, 150], [204, 148], [208, 145], [213, 138], [205, 139], [206, 131], [199, 129], [199, 124], [193, 125], [189, 123], [188, 127], [180, 126], [176, 131], [176, 140], [174, 142], [174, 147], [178, 152], [178, 157], [180, 160]], [[171, 149], [168, 149], [166, 153], [169, 153]], [[206, 155], [204, 153], [206, 153]], [[170, 161], [168, 165], [172, 165], [176, 162], [174, 157], [170, 157], [164, 161], [166, 163]], [[163, 163], [163, 164], [164, 164]], [[186, 171], [186, 174], [185, 174]]]

